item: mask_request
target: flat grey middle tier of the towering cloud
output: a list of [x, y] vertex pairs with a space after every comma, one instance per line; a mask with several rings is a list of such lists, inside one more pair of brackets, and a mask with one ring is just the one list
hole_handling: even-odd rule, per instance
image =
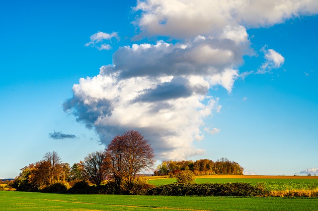
[[[231, 80], [236, 75], [231, 69], [242, 62], [242, 52], [247, 48], [247, 44], [213, 38], [174, 45], [163, 41], [134, 44], [119, 48], [113, 55], [114, 66], [108, 66], [107, 71], [118, 72], [120, 78], [197, 75], [214, 80], [210, 76], [218, 74]], [[231, 83], [226, 86], [231, 89]]]

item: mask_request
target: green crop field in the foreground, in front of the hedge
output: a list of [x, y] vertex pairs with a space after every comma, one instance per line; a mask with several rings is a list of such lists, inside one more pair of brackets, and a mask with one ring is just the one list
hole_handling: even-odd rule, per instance
[[0, 191], [3, 211], [317, 211], [314, 198], [169, 197]]

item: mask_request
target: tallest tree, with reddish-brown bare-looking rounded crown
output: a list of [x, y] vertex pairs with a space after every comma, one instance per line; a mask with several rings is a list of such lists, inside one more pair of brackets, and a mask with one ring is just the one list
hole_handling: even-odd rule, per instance
[[149, 140], [135, 130], [114, 137], [106, 149], [106, 155], [111, 160], [111, 175], [117, 188], [120, 188], [123, 179], [131, 186], [137, 173], [155, 164], [155, 154]]

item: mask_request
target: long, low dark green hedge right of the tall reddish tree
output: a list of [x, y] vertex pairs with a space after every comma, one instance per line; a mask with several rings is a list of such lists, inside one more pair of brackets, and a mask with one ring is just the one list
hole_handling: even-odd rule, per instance
[[268, 191], [261, 184], [205, 183], [160, 185], [148, 191], [148, 195], [161, 196], [265, 196]]

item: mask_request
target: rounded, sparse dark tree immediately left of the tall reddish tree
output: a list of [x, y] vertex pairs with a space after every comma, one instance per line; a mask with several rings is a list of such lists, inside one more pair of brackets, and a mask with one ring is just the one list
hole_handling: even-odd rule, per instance
[[84, 161], [80, 163], [83, 168], [84, 178], [91, 183], [99, 186], [106, 179], [109, 171], [109, 161], [103, 151], [88, 154]]

